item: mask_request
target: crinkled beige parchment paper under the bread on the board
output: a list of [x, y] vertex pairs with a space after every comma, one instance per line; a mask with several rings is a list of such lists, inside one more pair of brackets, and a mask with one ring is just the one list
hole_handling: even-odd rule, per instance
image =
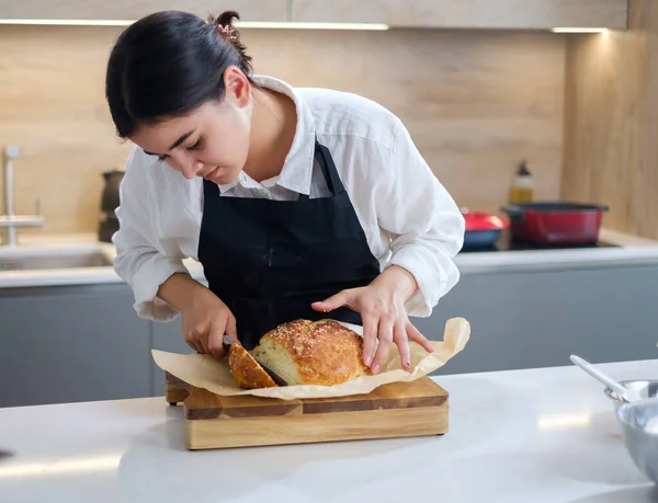
[[[363, 335], [359, 325], [342, 323]], [[375, 388], [395, 381], [411, 381], [430, 374], [464, 350], [470, 338], [470, 324], [463, 318], [452, 318], [445, 323], [443, 341], [432, 341], [434, 351], [428, 353], [419, 344], [410, 342], [411, 369], [400, 366], [400, 357], [395, 344], [392, 345], [388, 361], [379, 374], [358, 377], [334, 386], [281, 386], [276, 388], [240, 389], [228, 369], [228, 358], [217, 359], [209, 355], [180, 354], [151, 350], [156, 364], [179, 379], [220, 396], [253, 395], [282, 400], [299, 398], [347, 397], [368, 393]]]

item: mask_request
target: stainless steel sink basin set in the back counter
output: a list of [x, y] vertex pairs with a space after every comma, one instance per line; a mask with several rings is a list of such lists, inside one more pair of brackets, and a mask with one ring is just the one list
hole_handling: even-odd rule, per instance
[[106, 267], [112, 261], [94, 248], [0, 249], [0, 272]]

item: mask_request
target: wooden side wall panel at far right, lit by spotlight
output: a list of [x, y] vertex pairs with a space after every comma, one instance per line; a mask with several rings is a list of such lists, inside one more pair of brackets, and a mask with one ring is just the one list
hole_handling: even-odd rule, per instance
[[609, 204], [611, 228], [658, 238], [658, 4], [632, 0], [629, 23], [569, 42], [560, 192]]

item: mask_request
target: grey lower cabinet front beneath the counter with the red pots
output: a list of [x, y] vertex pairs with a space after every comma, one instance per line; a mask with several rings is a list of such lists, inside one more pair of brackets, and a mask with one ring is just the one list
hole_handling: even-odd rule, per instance
[[430, 318], [412, 318], [429, 339], [445, 321], [472, 325], [463, 353], [439, 374], [658, 357], [658, 265], [465, 274]]

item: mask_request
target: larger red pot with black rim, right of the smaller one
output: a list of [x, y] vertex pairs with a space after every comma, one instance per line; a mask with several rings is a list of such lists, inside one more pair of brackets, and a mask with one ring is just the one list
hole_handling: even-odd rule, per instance
[[599, 240], [605, 205], [523, 203], [504, 206], [513, 240], [533, 244], [590, 244]]

